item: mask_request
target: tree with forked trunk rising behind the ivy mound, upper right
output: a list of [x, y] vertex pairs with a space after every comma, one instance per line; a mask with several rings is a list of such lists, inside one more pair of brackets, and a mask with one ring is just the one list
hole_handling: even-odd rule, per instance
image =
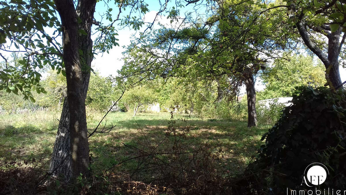
[[[297, 27], [306, 47], [322, 61], [326, 69], [327, 84], [331, 88], [342, 86], [339, 56], [344, 56], [345, 2], [339, 0], [295, 1], [286, 0], [287, 23]], [[289, 32], [289, 34], [294, 32]], [[340, 40], [340, 37], [342, 39]]]

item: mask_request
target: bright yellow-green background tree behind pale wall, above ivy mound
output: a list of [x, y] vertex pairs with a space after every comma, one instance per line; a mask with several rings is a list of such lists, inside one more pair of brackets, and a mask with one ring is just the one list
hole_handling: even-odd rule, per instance
[[294, 54], [285, 59], [276, 59], [273, 66], [261, 75], [266, 86], [260, 92], [261, 99], [291, 97], [298, 86], [323, 86], [324, 75], [322, 63], [314, 64], [311, 56]]

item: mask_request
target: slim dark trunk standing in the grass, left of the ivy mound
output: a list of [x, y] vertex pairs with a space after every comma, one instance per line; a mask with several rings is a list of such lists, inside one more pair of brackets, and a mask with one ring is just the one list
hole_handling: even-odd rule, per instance
[[252, 73], [248, 73], [245, 76], [246, 95], [247, 95], [247, 126], [257, 126], [257, 114], [256, 114], [256, 91], [255, 81]]

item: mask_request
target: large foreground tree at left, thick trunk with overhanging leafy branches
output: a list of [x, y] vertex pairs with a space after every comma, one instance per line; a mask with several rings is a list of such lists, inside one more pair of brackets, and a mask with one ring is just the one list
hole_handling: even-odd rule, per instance
[[[79, 173], [88, 175], [89, 172], [85, 98], [93, 54], [108, 51], [112, 46], [118, 45], [114, 24], [130, 25], [137, 30], [144, 22], [141, 17], [132, 17], [134, 12], [145, 14], [148, 11], [148, 4], [143, 1], [115, 1], [115, 7], [118, 8], [116, 18], [112, 18], [112, 8], [109, 8], [104, 11], [103, 16], [110, 20], [110, 23], [103, 24], [94, 20], [96, 2], [0, 2], [0, 49], [25, 53], [20, 60], [23, 68], [15, 71], [16, 74], [9, 74], [8, 70], [1, 71], [1, 81], [11, 81], [13, 85], [5, 90], [16, 92], [18, 88], [25, 98], [33, 99], [29, 89], [39, 81], [40, 75], [36, 68], [50, 65], [58, 73], [66, 75], [67, 97], [63, 104], [50, 166], [50, 172], [63, 177], [64, 181], [74, 179]], [[104, 3], [108, 7], [109, 1]], [[120, 13], [125, 7], [132, 11], [121, 19]], [[161, 8], [159, 13], [167, 8], [167, 4]], [[93, 33], [98, 34], [94, 42], [91, 40], [92, 25], [97, 26], [96, 32]], [[52, 31], [46, 31], [47, 28], [52, 28]], [[13, 45], [16, 49], [13, 49]], [[6, 61], [6, 58], [4, 60]], [[1, 86], [4, 85], [2, 82]]]

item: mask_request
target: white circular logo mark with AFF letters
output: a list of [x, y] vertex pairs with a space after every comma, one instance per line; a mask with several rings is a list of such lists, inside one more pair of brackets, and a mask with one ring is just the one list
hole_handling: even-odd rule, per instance
[[315, 186], [323, 184], [327, 179], [327, 175], [329, 175], [327, 167], [319, 162], [309, 164], [304, 171], [304, 179], [307, 183]]

